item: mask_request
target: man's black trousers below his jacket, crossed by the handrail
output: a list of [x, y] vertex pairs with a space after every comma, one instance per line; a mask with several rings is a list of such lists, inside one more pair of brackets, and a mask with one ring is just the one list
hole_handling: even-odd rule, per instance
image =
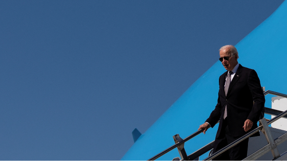
[[[227, 125], [227, 118], [226, 118], [225, 120], [223, 120], [220, 135], [214, 141], [213, 153], [226, 147], [228, 144], [236, 141], [240, 137], [241, 136], [234, 137], [230, 134], [230, 131]], [[224, 153], [220, 154], [219, 156], [215, 157], [212, 160], [242, 160], [244, 159], [245, 157], [247, 157], [248, 141], [249, 141], [249, 138], [243, 140], [242, 142], [238, 143], [234, 147], [230, 148], [228, 151], [225, 151]]]

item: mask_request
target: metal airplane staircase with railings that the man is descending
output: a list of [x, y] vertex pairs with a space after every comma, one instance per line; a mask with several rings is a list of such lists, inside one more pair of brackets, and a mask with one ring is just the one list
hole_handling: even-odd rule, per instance
[[[287, 98], [287, 95], [285, 95], [285, 94], [277, 93], [277, 92], [271, 91], [271, 90], [264, 91], [264, 89], [265, 88], [262, 87], [264, 96], [271, 94], [271, 95]], [[270, 115], [275, 116], [275, 117], [272, 118], [271, 120], [267, 120], [267, 119], [263, 118], [263, 116], [264, 116], [263, 113], [270, 114]], [[284, 130], [279, 130], [279, 129], [269, 127], [269, 125], [271, 123], [274, 123], [275, 121], [279, 120], [280, 118], [287, 119], [287, 110], [280, 111], [280, 110], [264, 107], [264, 109], [261, 113], [261, 116], [260, 116], [259, 126], [256, 129], [243, 135], [238, 140], [227, 145], [226, 147], [222, 148], [221, 150], [217, 151], [216, 153], [212, 152], [213, 144], [214, 144], [214, 141], [213, 141], [213, 142], [207, 144], [206, 146], [203, 146], [202, 148], [198, 149], [197, 151], [193, 152], [192, 154], [187, 155], [186, 150], [184, 148], [185, 142], [189, 141], [190, 139], [192, 139], [196, 135], [200, 134], [202, 132], [202, 129], [194, 132], [193, 134], [189, 135], [185, 139], [181, 139], [179, 134], [176, 134], [173, 136], [173, 139], [175, 142], [175, 144], [173, 146], [167, 148], [166, 150], [163, 150], [162, 152], [153, 156], [149, 160], [155, 160], [155, 159], [159, 158], [160, 156], [168, 153], [169, 151], [171, 151], [175, 148], [177, 148], [181, 159], [179, 157], [176, 157], [173, 160], [199, 160], [199, 156], [201, 156], [202, 154], [204, 154], [208, 151], [210, 151], [209, 156], [203, 160], [211, 160], [214, 157], [220, 155], [221, 153], [227, 151], [231, 147], [235, 146], [236, 144], [240, 143], [241, 141], [247, 139], [249, 136], [253, 135], [254, 133], [256, 133], [258, 131], [261, 131], [263, 133], [263, 135], [260, 132], [261, 135], [254, 137], [255, 139], [250, 139], [249, 143], [250, 142], [261, 143], [261, 144], [263, 144], [263, 147], [258, 148], [255, 146], [255, 147], [250, 148], [250, 146], [249, 146], [248, 156], [246, 158], [244, 158], [243, 160], [256, 160], [256, 159], [260, 159], [260, 160], [286, 160], [287, 159], [287, 151], [280, 154], [278, 151], [278, 147], [281, 148], [282, 146], [281, 147], [279, 146], [281, 144], [281, 145], [284, 145], [285, 149], [287, 149], [286, 148], [287, 147], [287, 142], [286, 142], [287, 141], [287, 132]], [[217, 123], [219, 123], [219, 121]], [[279, 134], [279, 136], [278, 136], [278, 134]], [[276, 135], [276, 139], [274, 139], [274, 135]], [[266, 143], [266, 142], [267, 142], [267, 145], [264, 145], [264, 143]], [[254, 144], [251, 144], [251, 145], [254, 145]], [[255, 144], [255, 145], [258, 146], [260, 144]], [[256, 148], [256, 149], [254, 150], [254, 148]], [[271, 157], [266, 157], [268, 152], [270, 152], [270, 151], [272, 153]]]

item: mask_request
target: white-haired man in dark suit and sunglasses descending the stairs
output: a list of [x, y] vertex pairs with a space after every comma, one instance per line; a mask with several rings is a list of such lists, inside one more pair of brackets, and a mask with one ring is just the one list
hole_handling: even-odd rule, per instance
[[[214, 127], [220, 119], [213, 153], [255, 129], [265, 103], [257, 73], [238, 63], [236, 48], [226, 45], [220, 48], [219, 55], [219, 60], [227, 72], [219, 77], [215, 109], [206, 122], [199, 126], [205, 134], [207, 129]], [[253, 136], [258, 135], [259, 132]], [[245, 139], [213, 160], [242, 160], [247, 157], [247, 149], [248, 139]]]

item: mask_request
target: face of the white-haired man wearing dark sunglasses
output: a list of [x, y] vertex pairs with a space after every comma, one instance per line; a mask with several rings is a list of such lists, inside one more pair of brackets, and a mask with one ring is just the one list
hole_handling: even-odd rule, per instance
[[220, 58], [223, 57], [229, 57], [229, 60], [223, 59], [221, 62], [224, 68], [228, 71], [232, 71], [233, 68], [237, 64], [237, 54], [231, 55], [231, 52], [229, 51], [229, 48], [223, 49], [219, 52]]

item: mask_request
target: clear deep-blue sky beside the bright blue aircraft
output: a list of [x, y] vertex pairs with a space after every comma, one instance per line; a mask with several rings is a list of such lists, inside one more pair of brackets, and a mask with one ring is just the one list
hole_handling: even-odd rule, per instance
[[282, 2], [0, 1], [0, 160], [119, 160]]

